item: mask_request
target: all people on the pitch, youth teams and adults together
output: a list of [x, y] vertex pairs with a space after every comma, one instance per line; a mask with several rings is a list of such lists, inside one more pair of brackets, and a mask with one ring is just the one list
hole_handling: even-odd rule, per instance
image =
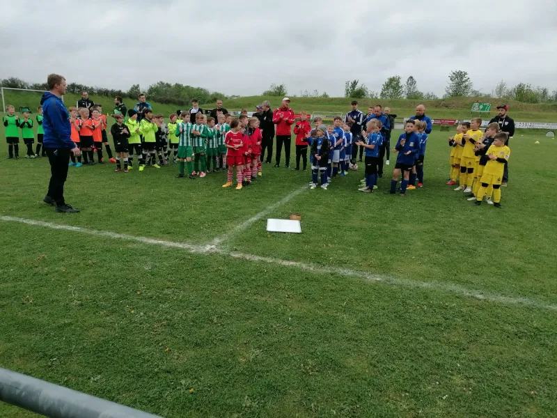
[[[115, 123], [109, 130], [116, 151], [114, 158], [107, 136], [107, 117], [102, 114], [102, 107], [93, 104], [84, 92], [77, 107], [66, 109], [60, 99], [61, 92], [65, 91], [65, 79], [56, 76], [56, 80], [61, 80], [63, 84], [58, 82], [58, 91], [54, 88], [45, 93], [38, 107], [36, 150], [33, 150], [33, 120], [29, 108], [22, 109], [20, 120], [15, 116], [15, 108], [8, 106], [7, 115], [3, 117], [8, 158], [19, 157], [18, 130], [22, 131], [27, 146], [26, 157], [47, 155], [51, 167], [54, 158], [60, 173], [56, 171], [55, 176], [53, 171], [50, 188], [54, 192], [49, 190], [51, 194], [47, 194], [44, 200], [55, 209], [60, 206], [70, 208], [70, 212], [75, 210], [60, 197], [63, 196], [68, 167], [95, 164], [95, 152], [97, 163], [103, 164], [103, 146], [109, 162], [116, 163], [115, 172], [128, 173], [134, 169], [135, 153], [139, 171], [144, 171], [146, 167], [160, 169], [173, 162], [179, 167], [176, 178], [195, 180], [223, 170], [226, 171], [226, 182], [222, 187], [232, 187], [236, 173], [235, 188], [240, 190], [262, 176], [265, 148], [268, 152], [266, 162], [270, 162], [275, 127], [277, 147], [274, 167], [281, 167], [284, 145], [285, 167], [290, 168], [293, 127], [296, 135], [295, 170], [306, 171], [309, 160], [310, 189], [320, 186], [327, 190], [334, 179], [356, 171], [357, 162], [363, 162], [365, 175], [359, 191], [372, 194], [378, 187], [378, 178], [383, 176], [384, 165], [390, 165], [391, 153], [396, 155], [396, 161], [391, 185], [384, 191], [385, 194], [398, 192], [400, 196], [405, 196], [407, 191], [416, 189], [416, 180], [418, 188], [424, 185], [425, 153], [432, 121], [425, 116], [423, 105], [416, 107], [416, 115], [405, 121], [404, 132], [391, 150], [391, 132], [396, 115], [391, 115], [391, 109], [383, 109], [379, 104], [370, 107], [368, 115], [364, 116], [358, 109], [358, 102], [353, 100], [352, 110], [345, 118], [335, 116], [332, 124], [325, 125], [321, 117], [315, 116], [312, 127], [306, 111], [295, 115], [289, 98], [283, 98], [281, 107], [273, 112], [269, 102], [263, 102], [256, 106], [258, 111], [251, 117], [246, 109], [242, 109], [240, 116], [233, 117], [221, 107], [220, 100], [217, 109], [211, 111], [214, 116], [207, 116], [198, 107], [197, 100], [192, 100], [191, 109], [171, 114], [167, 124], [164, 115], [154, 113], [145, 95], [139, 95], [139, 102], [130, 110], [118, 96], [111, 115]], [[507, 108], [504, 108], [506, 111]], [[464, 192], [469, 201], [479, 206], [486, 199], [487, 203], [501, 208], [501, 185], [504, 185], [503, 177], [510, 157], [510, 149], [506, 145], [508, 132], [499, 132], [501, 125], [496, 122], [489, 123], [483, 132], [481, 124], [480, 118], [464, 121], [457, 126], [457, 134], [448, 139], [450, 179], [447, 184], [456, 185], [458, 180], [460, 184], [455, 190]], [[58, 161], [62, 154], [71, 160], [63, 164], [65, 169]], [[359, 160], [356, 160], [358, 154]]]

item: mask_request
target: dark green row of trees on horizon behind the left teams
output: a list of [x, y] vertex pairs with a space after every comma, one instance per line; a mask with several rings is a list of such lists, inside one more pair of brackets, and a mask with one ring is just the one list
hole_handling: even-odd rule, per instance
[[[0, 79], [1, 87], [9, 88], [26, 88], [31, 90], [47, 91], [46, 83], [28, 83], [16, 77]], [[148, 86], [147, 90], [142, 90], [139, 84], [134, 84], [128, 91], [116, 90], [113, 88], [102, 88], [94, 86], [86, 86], [85, 84], [70, 83], [68, 84], [68, 93], [81, 94], [87, 91], [89, 95], [105, 96], [115, 98], [117, 95], [123, 98], [137, 99], [140, 93], [147, 95], [148, 100], [164, 104], [184, 104], [191, 99], [197, 99], [200, 103], [210, 103], [219, 99], [235, 98], [237, 96], [226, 96], [218, 91], [209, 91], [207, 88], [184, 86], [183, 84], [158, 82]]]

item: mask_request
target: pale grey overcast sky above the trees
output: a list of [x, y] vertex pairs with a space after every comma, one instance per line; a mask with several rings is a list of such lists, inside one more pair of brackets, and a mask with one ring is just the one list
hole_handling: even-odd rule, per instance
[[162, 80], [227, 95], [285, 83], [292, 95], [342, 96], [348, 79], [379, 92], [387, 77], [413, 75], [442, 95], [448, 73], [466, 70], [487, 93], [501, 79], [557, 88], [555, 0], [0, 3], [0, 78], [58, 72], [124, 91]]

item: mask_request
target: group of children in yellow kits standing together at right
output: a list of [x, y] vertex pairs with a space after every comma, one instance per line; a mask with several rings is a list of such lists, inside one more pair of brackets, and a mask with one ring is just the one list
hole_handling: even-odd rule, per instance
[[501, 206], [501, 183], [510, 148], [505, 146], [508, 134], [500, 132], [499, 123], [480, 130], [481, 118], [473, 118], [457, 126], [457, 134], [449, 138], [450, 180], [447, 185], [460, 185], [469, 201], [480, 206], [483, 199], [496, 208]]

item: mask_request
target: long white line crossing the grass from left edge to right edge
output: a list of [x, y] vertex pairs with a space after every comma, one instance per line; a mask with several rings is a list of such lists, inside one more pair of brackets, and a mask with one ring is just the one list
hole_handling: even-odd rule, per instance
[[187, 244], [185, 242], [155, 240], [153, 238], [138, 237], [134, 235], [127, 235], [124, 233], [115, 233], [111, 231], [98, 231], [95, 229], [82, 228], [81, 226], [52, 224], [51, 222], [37, 221], [34, 219], [24, 219], [24, 218], [11, 217], [11, 216], [0, 216], [0, 220], [4, 222], [18, 222], [20, 224], [27, 224], [31, 226], [42, 226], [49, 229], [61, 229], [63, 231], [84, 233], [87, 235], [95, 235], [103, 238], [111, 238], [113, 240], [128, 240], [128, 241], [140, 242], [142, 244], [159, 245], [168, 248], [184, 249], [185, 251], [188, 251], [192, 254], [220, 254], [222, 256], [229, 256], [232, 258], [237, 258], [246, 261], [253, 261], [256, 263], [270, 263], [270, 264], [282, 265], [288, 268], [297, 268], [299, 270], [313, 272], [315, 274], [326, 274], [326, 275], [338, 274], [340, 276], [345, 276], [345, 277], [356, 277], [364, 281], [381, 282], [395, 287], [432, 289], [434, 291], [450, 293], [460, 297], [469, 297], [472, 299], [485, 300], [487, 302], [494, 302], [498, 304], [524, 305], [526, 307], [531, 307], [535, 309], [557, 311], [557, 304], [548, 304], [546, 302], [542, 302], [536, 299], [531, 299], [528, 297], [512, 297], [512, 296], [499, 295], [497, 293], [487, 293], [483, 291], [465, 288], [463, 286], [460, 286], [458, 284], [453, 284], [453, 283], [441, 283], [439, 281], [419, 281], [419, 280], [412, 280], [412, 279], [397, 279], [395, 277], [379, 277], [376, 274], [370, 274], [368, 272], [364, 272], [361, 270], [350, 270], [350, 269], [338, 268], [338, 267], [326, 267], [326, 266], [315, 265], [311, 263], [302, 263], [299, 261], [288, 261], [288, 260], [281, 260], [280, 258], [263, 257], [263, 256], [256, 256], [253, 254], [244, 254], [237, 251], [228, 251], [226, 249], [220, 249], [216, 245], [192, 245], [192, 244]]

